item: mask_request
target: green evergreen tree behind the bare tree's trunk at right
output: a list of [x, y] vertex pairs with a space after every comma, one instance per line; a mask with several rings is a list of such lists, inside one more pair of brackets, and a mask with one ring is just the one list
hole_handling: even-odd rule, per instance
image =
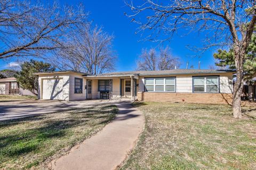
[[[255, 29], [254, 29], [255, 31]], [[228, 67], [228, 69], [236, 69], [234, 49], [219, 49], [218, 53], [213, 54], [217, 60], [215, 65], [219, 67]], [[253, 33], [251, 43], [249, 44], [244, 58], [244, 79], [250, 80], [256, 77], [256, 34]]]

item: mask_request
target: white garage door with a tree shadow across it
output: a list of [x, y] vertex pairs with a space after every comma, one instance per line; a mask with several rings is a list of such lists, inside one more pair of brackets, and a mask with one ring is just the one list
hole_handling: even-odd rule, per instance
[[63, 100], [63, 80], [44, 79], [43, 99]]

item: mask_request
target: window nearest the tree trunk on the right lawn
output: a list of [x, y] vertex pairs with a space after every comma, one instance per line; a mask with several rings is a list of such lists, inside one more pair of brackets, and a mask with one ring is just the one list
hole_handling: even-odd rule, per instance
[[194, 92], [219, 92], [219, 77], [193, 77]]

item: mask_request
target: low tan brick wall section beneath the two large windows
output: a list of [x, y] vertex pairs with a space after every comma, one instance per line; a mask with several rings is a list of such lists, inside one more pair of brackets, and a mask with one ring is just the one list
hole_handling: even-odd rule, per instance
[[139, 101], [170, 101], [205, 104], [231, 104], [232, 94], [199, 94], [179, 92], [138, 92]]

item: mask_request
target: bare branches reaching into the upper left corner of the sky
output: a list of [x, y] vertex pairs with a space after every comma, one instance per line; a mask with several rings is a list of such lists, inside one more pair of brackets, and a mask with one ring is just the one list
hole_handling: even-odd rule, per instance
[[61, 48], [63, 35], [84, 23], [83, 7], [0, 1], [0, 59], [42, 56]]

